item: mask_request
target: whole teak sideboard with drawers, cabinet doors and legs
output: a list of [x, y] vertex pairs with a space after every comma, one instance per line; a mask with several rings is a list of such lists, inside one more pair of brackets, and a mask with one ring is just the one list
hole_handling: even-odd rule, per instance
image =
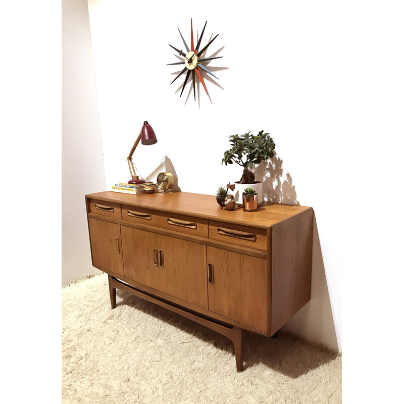
[[309, 300], [313, 209], [222, 210], [187, 192], [86, 198], [92, 265], [121, 289], [217, 331], [243, 370], [244, 330], [272, 336]]

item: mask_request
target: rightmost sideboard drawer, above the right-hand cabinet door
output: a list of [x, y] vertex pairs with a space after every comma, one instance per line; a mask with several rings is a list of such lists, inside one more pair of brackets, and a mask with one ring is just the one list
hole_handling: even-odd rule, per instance
[[209, 238], [243, 247], [267, 250], [267, 231], [257, 227], [210, 220]]

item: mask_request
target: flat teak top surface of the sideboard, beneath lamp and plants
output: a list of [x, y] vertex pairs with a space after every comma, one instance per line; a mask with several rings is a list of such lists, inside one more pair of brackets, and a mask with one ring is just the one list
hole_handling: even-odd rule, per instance
[[235, 211], [220, 209], [213, 195], [190, 192], [155, 192], [129, 195], [126, 193], [103, 191], [85, 195], [86, 198], [98, 199], [111, 203], [125, 204], [162, 212], [178, 213], [205, 219], [232, 222], [256, 227], [272, 227], [288, 220], [292, 216], [312, 210], [307, 206], [272, 204], [264, 202], [255, 212], [244, 212], [238, 207]]

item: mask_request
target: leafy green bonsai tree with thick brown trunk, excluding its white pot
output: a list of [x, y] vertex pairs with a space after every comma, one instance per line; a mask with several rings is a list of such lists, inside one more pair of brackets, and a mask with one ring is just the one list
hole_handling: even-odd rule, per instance
[[244, 168], [240, 184], [254, 184], [252, 165], [274, 157], [275, 143], [269, 133], [264, 133], [263, 130], [258, 132], [258, 135], [250, 133], [251, 131], [244, 135], [229, 136], [232, 147], [224, 152], [222, 159], [222, 164], [226, 166], [236, 163]]

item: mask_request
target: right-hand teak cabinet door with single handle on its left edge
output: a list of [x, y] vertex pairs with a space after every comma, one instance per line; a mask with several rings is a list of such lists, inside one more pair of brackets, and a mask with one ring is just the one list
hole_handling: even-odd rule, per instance
[[267, 331], [267, 261], [208, 246], [209, 310]]

